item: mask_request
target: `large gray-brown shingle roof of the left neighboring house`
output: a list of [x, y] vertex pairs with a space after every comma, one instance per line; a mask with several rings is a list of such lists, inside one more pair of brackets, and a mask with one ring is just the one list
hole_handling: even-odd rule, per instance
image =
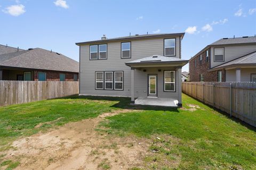
[[42, 48], [2, 54], [0, 55], [0, 66], [79, 72], [79, 63], [77, 61]]

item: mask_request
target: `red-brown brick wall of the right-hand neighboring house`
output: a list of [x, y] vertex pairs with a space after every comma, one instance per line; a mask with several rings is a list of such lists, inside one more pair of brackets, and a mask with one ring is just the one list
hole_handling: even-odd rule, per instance
[[[205, 60], [206, 50], [209, 50], [208, 62]], [[203, 74], [204, 81], [218, 81], [218, 71], [222, 71], [222, 81], [226, 81], [226, 71], [218, 70], [209, 72], [211, 50], [206, 49], [201, 54], [197, 55], [193, 60], [189, 61], [189, 81], [200, 81], [200, 74]], [[200, 55], [202, 55], [202, 64], [200, 65]], [[195, 67], [196, 60], [196, 67]]]

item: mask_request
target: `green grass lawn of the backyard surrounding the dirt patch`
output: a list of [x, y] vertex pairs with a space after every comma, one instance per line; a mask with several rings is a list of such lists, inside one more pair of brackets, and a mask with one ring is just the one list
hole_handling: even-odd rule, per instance
[[[138, 111], [108, 117], [102, 125], [109, 128], [108, 132], [124, 137], [161, 137], [149, 148], [157, 151], [155, 155], [145, 158], [151, 169], [171, 169], [162, 160], [175, 159], [179, 160], [177, 169], [256, 169], [255, 129], [193, 98], [182, 97], [185, 109], [135, 107], [129, 105], [130, 98], [81, 96], [0, 107], [0, 151], [8, 149], [19, 137], [116, 109], [133, 108]], [[190, 108], [188, 104], [200, 108], [191, 112], [186, 110]], [[39, 123], [42, 126], [35, 128]]]

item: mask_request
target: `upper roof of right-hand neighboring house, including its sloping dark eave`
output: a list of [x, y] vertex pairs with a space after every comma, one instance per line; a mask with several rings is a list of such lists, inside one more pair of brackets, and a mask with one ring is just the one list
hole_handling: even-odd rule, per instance
[[[218, 46], [218, 45], [241, 45], [241, 44], [252, 44], [256, 43], [256, 37], [237, 37], [237, 38], [221, 38], [218, 41], [215, 41], [214, 43], [207, 45], [204, 47], [200, 52], [198, 52], [196, 55], [190, 58], [192, 60], [199, 54], [201, 54], [205, 49], [211, 47], [211, 46]], [[189, 60], [189, 61], [190, 61]]]

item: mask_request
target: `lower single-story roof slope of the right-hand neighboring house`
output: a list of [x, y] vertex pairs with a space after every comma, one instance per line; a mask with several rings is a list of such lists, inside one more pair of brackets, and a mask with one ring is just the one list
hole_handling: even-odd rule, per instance
[[211, 69], [212, 70], [217, 70], [221, 69], [224, 67], [230, 67], [230, 66], [235, 66], [235, 65], [244, 65], [244, 64], [256, 64], [256, 51], [250, 54], [246, 54], [242, 57], [236, 58], [235, 60], [229, 61], [227, 63], [215, 66]]

